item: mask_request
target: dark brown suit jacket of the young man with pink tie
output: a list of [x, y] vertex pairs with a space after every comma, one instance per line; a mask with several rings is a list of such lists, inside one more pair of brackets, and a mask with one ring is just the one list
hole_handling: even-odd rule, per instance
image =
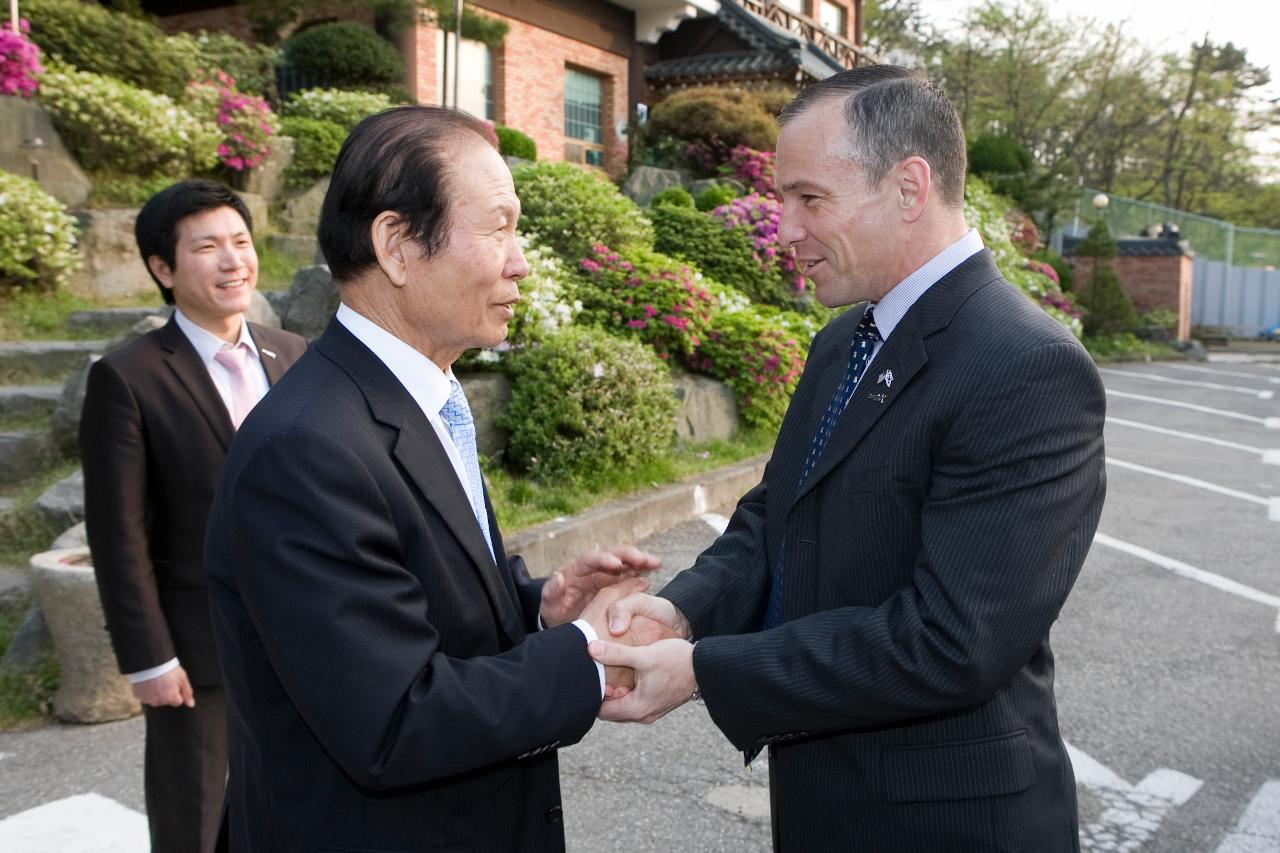
[[[273, 384], [307, 346], [256, 323], [250, 334]], [[202, 560], [234, 434], [209, 370], [172, 318], [90, 370], [79, 426], [84, 524], [122, 672], [177, 656], [193, 685], [221, 683]]]

